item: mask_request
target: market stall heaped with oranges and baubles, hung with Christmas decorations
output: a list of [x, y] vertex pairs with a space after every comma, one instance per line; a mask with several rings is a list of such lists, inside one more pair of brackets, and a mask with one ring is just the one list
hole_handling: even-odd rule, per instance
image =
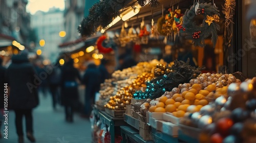
[[230, 50], [236, 8], [235, 1], [96, 3], [81, 35], [101, 31], [100, 53], [140, 59], [101, 84], [93, 141], [255, 142], [255, 78], [228, 61], [237, 48]]

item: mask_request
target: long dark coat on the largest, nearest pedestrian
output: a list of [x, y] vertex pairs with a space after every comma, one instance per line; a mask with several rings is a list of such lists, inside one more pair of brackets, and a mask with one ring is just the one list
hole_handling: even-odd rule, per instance
[[36, 77], [33, 65], [25, 55], [13, 55], [6, 73], [10, 109], [32, 109], [38, 105]]

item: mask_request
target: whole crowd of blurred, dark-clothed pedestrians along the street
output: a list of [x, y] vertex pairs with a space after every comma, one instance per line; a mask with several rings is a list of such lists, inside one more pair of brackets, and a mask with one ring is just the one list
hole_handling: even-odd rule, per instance
[[[100, 66], [94, 63], [87, 65], [87, 69], [81, 73], [74, 67], [73, 59], [66, 59], [65, 64], [58, 63], [43, 65], [41, 62], [32, 63], [28, 59], [28, 51], [13, 55], [11, 64], [3, 66], [0, 57], [0, 76], [2, 94], [0, 95], [0, 129], [4, 121], [4, 84], [8, 84], [8, 110], [15, 112], [16, 134], [18, 142], [24, 142], [23, 116], [26, 120], [26, 136], [31, 142], [35, 142], [33, 135], [33, 108], [40, 105], [39, 94], [46, 96], [49, 91], [52, 98], [52, 108], [63, 106], [65, 114], [63, 118], [68, 123], [74, 122], [74, 112], [83, 118], [89, 118], [92, 105], [95, 103], [95, 94], [100, 89], [100, 83], [109, 78], [106, 70], [106, 60], [102, 60]], [[84, 101], [80, 101], [78, 88], [85, 85]], [[0, 138], [3, 137], [0, 131]], [[1, 141], [0, 141], [1, 142]]]

